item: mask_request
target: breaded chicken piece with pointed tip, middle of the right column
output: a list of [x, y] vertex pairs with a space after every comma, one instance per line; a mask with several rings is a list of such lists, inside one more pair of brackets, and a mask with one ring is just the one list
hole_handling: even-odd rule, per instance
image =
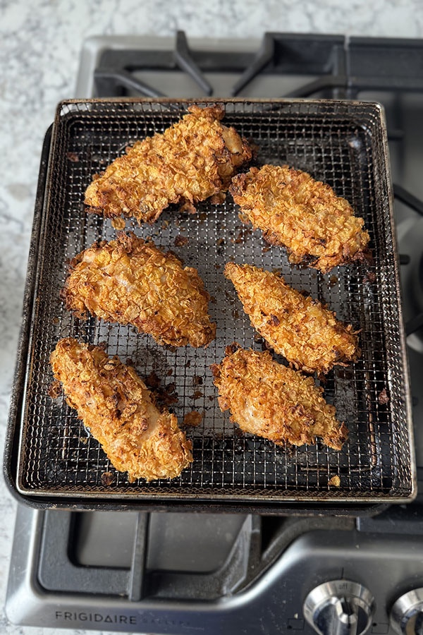
[[356, 332], [336, 320], [318, 300], [295, 291], [276, 273], [228, 262], [233, 282], [252, 326], [299, 370], [329, 373], [333, 365], [357, 361]]

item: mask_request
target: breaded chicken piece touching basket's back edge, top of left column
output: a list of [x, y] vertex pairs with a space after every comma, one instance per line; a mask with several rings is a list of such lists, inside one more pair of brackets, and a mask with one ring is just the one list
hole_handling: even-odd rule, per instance
[[194, 210], [197, 201], [226, 191], [252, 151], [234, 128], [220, 123], [221, 106], [192, 106], [178, 123], [137, 141], [85, 193], [88, 211], [154, 222], [171, 203]]

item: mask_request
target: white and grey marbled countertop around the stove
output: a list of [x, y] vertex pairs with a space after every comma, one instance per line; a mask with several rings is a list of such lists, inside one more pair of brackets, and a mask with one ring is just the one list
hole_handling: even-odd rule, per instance
[[[57, 102], [73, 97], [91, 35], [254, 37], [267, 30], [423, 37], [420, 0], [0, 0], [0, 447], [4, 444], [42, 140]], [[16, 502], [0, 478], [0, 633], [16, 627], [4, 598]]]

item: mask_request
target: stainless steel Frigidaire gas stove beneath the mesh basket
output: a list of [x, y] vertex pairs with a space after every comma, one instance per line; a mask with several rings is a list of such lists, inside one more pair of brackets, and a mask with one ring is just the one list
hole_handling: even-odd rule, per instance
[[6, 612], [43, 627], [154, 634], [376, 635], [423, 625], [423, 42], [266, 34], [99, 37], [76, 97], [376, 100], [388, 121], [413, 394], [417, 499], [308, 516], [18, 506]]

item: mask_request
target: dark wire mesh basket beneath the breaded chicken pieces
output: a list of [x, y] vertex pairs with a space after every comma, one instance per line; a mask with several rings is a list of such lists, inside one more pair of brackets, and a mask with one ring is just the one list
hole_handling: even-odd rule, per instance
[[[128, 144], [178, 121], [187, 102], [64, 102], [56, 116], [39, 250], [18, 466], [21, 492], [251, 502], [410, 497], [410, 404], [381, 111], [362, 102], [222, 103], [224, 122], [259, 147], [257, 164], [288, 163], [309, 171], [351, 202], [369, 230], [374, 264], [339, 267], [326, 275], [290, 265], [283, 249], [269, 248], [260, 231], [240, 222], [228, 195], [221, 205], [200, 203], [196, 214], [172, 209], [152, 226], [126, 224], [197, 267], [212, 296], [209, 309], [217, 323], [216, 340], [207, 349], [169, 349], [133, 327], [75, 319], [59, 297], [66, 264], [98, 238], [116, 235], [109, 220], [85, 212], [85, 188]], [[362, 358], [333, 370], [325, 385], [326, 399], [350, 430], [341, 452], [320, 443], [276, 447], [241, 433], [228, 413], [221, 413], [210, 365], [221, 361], [232, 341], [253, 349], [263, 344], [223, 277], [230, 260], [280, 270], [288, 284], [309, 291], [339, 319], [360, 329]], [[178, 421], [192, 410], [204, 415], [200, 426], [187, 430], [194, 461], [180, 478], [128, 483], [75, 411], [63, 399], [49, 397], [49, 355], [69, 335], [93, 344], [106, 342], [107, 352], [124, 362], [130, 359], [141, 377], [155, 373], [174, 399], [170, 409]], [[387, 403], [380, 398], [384, 391]], [[109, 485], [102, 481], [105, 472], [113, 473]], [[333, 476], [340, 478], [339, 487]]]

